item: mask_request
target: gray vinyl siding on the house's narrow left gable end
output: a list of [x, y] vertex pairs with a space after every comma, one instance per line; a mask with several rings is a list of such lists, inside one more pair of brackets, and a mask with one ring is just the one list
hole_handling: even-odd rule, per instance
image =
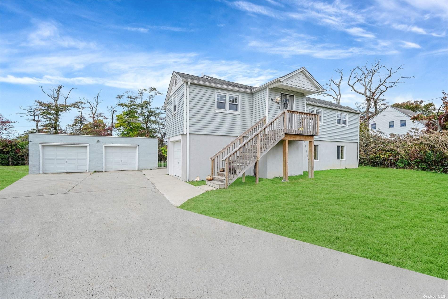
[[[172, 114], [172, 100], [177, 97], [177, 112]], [[184, 85], [177, 88], [177, 90], [168, 98], [167, 105], [167, 138], [184, 133]]]

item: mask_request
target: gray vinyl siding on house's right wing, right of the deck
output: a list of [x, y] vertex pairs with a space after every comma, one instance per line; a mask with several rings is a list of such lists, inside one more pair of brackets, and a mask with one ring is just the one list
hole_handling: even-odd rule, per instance
[[[350, 113], [327, 107], [313, 106], [309, 103], [310, 102], [306, 105], [306, 112], [308, 112], [308, 108], [323, 109], [323, 123], [319, 124], [319, 135], [314, 137], [315, 140], [358, 142], [358, 113]], [[336, 111], [347, 113], [349, 126], [336, 126]]]

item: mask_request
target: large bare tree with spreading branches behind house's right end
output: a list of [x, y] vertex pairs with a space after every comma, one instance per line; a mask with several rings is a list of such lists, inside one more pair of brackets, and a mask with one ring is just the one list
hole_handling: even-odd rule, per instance
[[371, 105], [373, 104], [373, 113], [378, 113], [380, 104], [384, 102], [381, 96], [388, 89], [404, 83], [401, 79], [414, 78], [414, 76], [400, 76], [392, 79], [399, 70], [403, 69], [403, 65], [393, 70], [393, 68], [388, 68], [383, 65], [381, 60], [375, 59], [375, 64], [371, 64], [370, 66], [367, 66], [367, 64], [368, 62], [364, 66], [357, 66], [352, 69], [347, 84], [352, 88], [352, 91], [365, 97], [366, 121], [369, 121]]

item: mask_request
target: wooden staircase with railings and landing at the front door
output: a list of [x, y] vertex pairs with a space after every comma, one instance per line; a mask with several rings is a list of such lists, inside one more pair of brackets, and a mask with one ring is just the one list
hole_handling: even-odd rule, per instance
[[[227, 188], [241, 175], [243, 182], [247, 169], [255, 165], [255, 183], [258, 183], [258, 161], [282, 139], [291, 135], [319, 134], [319, 115], [294, 110], [283, 110], [271, 121], [266, 117], [217, 152], [211, 159], [212, 181], [207, 185]], [[297, 139], [296, 139], [297, 140]], [[220, 171], [220, 169], [224, 171]]]

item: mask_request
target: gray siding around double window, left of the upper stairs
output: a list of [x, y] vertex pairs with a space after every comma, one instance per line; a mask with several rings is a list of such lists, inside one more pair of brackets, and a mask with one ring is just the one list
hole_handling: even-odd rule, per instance
[[241, 91], [228, 91], [240, 95], [241, 114], [215, 111], [215, 90], [190, 84], [190, 134], [212, 134], [237, 136], [252, 126], [252, 95]]

